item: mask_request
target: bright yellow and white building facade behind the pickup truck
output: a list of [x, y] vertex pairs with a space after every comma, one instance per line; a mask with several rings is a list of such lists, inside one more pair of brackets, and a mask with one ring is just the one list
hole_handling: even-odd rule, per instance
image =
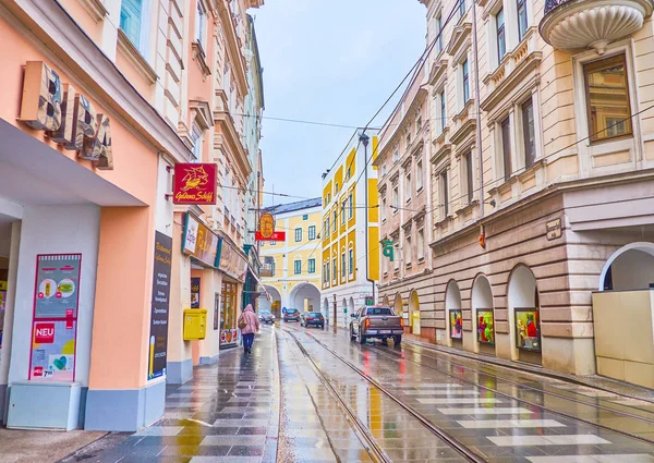
[[323, 176], [322, 312], [349, 326], [349, 314], [374, 304], [379, 278], [377, 131], [355, 133]]

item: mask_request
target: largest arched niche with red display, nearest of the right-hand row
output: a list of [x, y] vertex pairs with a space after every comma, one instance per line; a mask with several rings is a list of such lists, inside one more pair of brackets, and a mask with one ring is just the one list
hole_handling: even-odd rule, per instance
[[514, 360], [542, 364], [541, 302], [536, 278], [529, 267], [519, 265], [511, 272], [508, 303]]

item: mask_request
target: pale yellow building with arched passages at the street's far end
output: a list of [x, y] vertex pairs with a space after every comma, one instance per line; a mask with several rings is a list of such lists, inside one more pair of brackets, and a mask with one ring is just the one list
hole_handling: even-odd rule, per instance
[[259, 298], [259, 308], [281, 316], [282, 308], [319, 312], [322, 199], [306, 199], [265, 208], [275, 217], [276, 230], [286, 232], [284, 242], [262, 242], [262, 283], [269, 297]]

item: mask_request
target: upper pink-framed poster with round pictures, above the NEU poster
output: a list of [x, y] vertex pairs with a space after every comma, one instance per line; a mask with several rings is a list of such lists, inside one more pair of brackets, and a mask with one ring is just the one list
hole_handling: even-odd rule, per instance
[[34, 318], [77, 318], [82, 254], [36, 257]]

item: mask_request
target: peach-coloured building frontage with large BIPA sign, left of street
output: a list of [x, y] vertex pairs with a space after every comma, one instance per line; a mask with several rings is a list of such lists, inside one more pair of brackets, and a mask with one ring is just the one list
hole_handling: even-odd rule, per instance
[[[227, 186], [253, 170], [241, 44], [262, 3], [0, 4], [7, 426], [136, 430], [162, 416], [166, 382], [218, 354], [251, 266], [244, 196]], [[187, 162], [217, 165], [216, 206], [172, 204]], [[208, 310], [204, 340], [183, 334], [192, 307]]]

